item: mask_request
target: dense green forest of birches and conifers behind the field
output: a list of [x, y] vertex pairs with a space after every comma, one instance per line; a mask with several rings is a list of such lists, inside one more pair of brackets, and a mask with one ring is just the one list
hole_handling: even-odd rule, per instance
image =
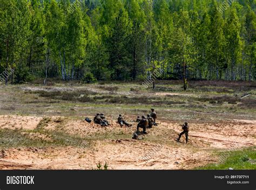
[[[255, 0], [0, 0], [3, 83], [256, 79]], [[11, 71], [11, 72], [10, 72]]]

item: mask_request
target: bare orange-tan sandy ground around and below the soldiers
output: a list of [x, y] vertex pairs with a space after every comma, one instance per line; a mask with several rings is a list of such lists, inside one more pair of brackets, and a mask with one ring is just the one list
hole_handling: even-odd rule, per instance
[[[32, 130], [42, 119], [3, 115], [0, 116], [0, 128]], [[176, 122], [159, 121], [158, 126], [148, 130], [149, 135], [144, 140], [133, 140], [131, 136], [136, 130], [134, 125], [132, 128], [120, 128], [116, 122], [110, 121], [112, 125], [105, 128], [94, 123], [62, 118], [59, 127], [59, 119], [52, 117], [44, 129], [90, 137], [93, 144], [89, 147], [21, 147], [1, 150], [0, 169], [93, 169], [101, 161], [102, 164], [106, 162], [109, 169], [184, 170], [218, 161], [211, 156], [211, 150], [234, 150], [256, 144], [255, 121], [190, 123], [189, 143], [185, 144], [184, 137], [181, 143], [175, 140], [181, 132], [181, 126]], [[104, 134], [113, 131], [127, 133], [129, 137], [104, 139]], [[98, 136], [101, 138], [97, 139]], [[51, 140], [42, 134], [31, 133], [31, 138]], [[159, 138], [161, 143], [153, 143], [152, 138]]]

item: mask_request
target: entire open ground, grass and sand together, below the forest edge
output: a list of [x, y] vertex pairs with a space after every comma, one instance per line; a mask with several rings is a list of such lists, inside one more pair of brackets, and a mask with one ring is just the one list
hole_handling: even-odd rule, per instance
[[[255, 159], [255, 148], [240, 149], [255, 145], [256, 82], [190, 81], [186, 92], [182, 81], [156, 81], [156, 89], [145, 88], [142, 82], [49, 81], [47, 86], [40, 85], [41, 82], [0, 88], [0, 148], [5, 152], [5, 160], [24, 158], [23, 164], [31, 165], [21, 156], [23, 151], [30, 152], [27, 147], [46, 152], [58, 147], [65, 152], [72, 147], [70, 151], [75, 151], [77, 157], [65, 158], [63, 152], [56, 156], [64, 157], [71, 166], [79, 163], [71, 168], [92, 168], [102, 161], [109, 168], [127, 169], [255, 169], [255, 164], [250, 163]], [[120, 128], [116, 124], [118, 115], [123, 114], [131, 121], [137, 115], [146, 115], [152, 107], [157, 111], [159, 126], [149, 130], [142, 140], [131, 142], [136, 123], [132, 123], [132, 128]], [[110, 128], [83, 122], [97, 112], [104, 112], [112, 123]], [[184, 121], [192, 125], [187, 145], [175, 141]], [[228, 132], [230, 128], [232, 133]], [[137, 165], [131, 161], [157, 144], [163, 145], [163, 149], [150, 159], [156, 164], [141, 165], [137, 161]], [[220, 162], [221, 152], [230, 149], [234, 151]], [[117, 158], [112, 158], [112, 150], [117, 151]], [[38, 163], [36, 168], [48, 167], [41, 166], [40, 156], [31, 157]], [[82, 158], [86, 165], [83, 167]], [[132, 163], [114, 161], [120, 158]], [[62, 165], [56, 164], [56, 168]]]

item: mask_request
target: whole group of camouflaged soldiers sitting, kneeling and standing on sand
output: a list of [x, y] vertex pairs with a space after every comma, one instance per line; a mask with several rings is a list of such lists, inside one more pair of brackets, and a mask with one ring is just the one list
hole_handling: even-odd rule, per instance
[[[143, 134], [147, 134], [147, 132], [146, 132], [147, 128], [152, 128], [153, 125], [157, 126], [156, 119], [157, 119], [157, 113], [156, 113], [156, 111], [154, 111], [153, 108], [151, 108], [151, 112], [150, 112], [150, 114], [147, 114], [147, 117], [145, 117], [144, 115], [142, 117], [138, 116], [136, 121], [134, 121], [134, 122], [138, 122], [138, 124], [137, 124], [137, 131], [136, 131], [136, 133], [133, 134], [132, 138], [133, 139], [137, 139], [138, 138], [138, 135], [140, 134], [139, 128], [143, 129]], [[91, 122], [89, 118], [86, 118], [85, 120], [87, 122]], [[100, 126], [108, 126], [108, 125], [110, 125], [109, 122], [106, 120], [106, 118], [105, 118], [103, 113], [97, 113], [96, 116], [93, 118], [93, 121], [95, 123], [97, 123], [97, 124], [100, 124]], [[122, 114], [119, 114], [119, 117], [117, 118], [117, 122], [120, 124], [121, 127], [123, 127], [123, 125], [129, 126], [129, 127], [132, 126], [132, 124], [129, 124], [125, 120], [125, 118], [122, 116]], [[187, 143], [188, 142], [188, 130], [189, 130], [187, 122], [185, 122], [182, 125], [182, 129], [183, 129], [183, 132], [180, 133], [180, 135], [177, 138], [177, 140], [179, 142], [181, 136], [185, 134], [185, 136], [186, 136], [186, 143]]]

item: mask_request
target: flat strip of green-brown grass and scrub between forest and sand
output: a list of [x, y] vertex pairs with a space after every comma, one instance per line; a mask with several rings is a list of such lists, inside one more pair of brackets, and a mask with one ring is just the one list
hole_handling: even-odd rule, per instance
[[44, 115], [84, 116], [99, 109], [108, 115], [115, 111], [139, 114], [154, 107], [160, 110], [160, 117], [171, 119], [211, 121], [212, 117], [226, 118], [227, 112], [232, 118], [255, 115], [255, 82], [191, 82], [186, 92], [181, 81], [159, 81], [155, 90], [139, 82], [105, 83], [1, 86], [1, 114], [35, 115], [42, 111]]

